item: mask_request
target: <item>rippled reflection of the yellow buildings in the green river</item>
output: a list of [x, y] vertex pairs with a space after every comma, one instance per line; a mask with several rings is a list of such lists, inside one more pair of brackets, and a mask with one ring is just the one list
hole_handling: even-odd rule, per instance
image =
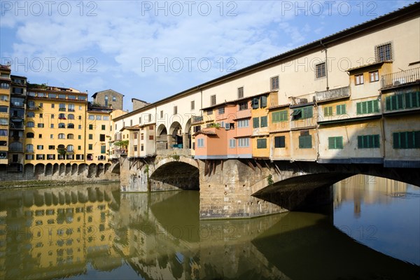
[[[1, 279], [52, 279], [121, 264], [113, 248], [112, 188], [1, 195]], [[118, 186], [114, 188], [118, 190]]]

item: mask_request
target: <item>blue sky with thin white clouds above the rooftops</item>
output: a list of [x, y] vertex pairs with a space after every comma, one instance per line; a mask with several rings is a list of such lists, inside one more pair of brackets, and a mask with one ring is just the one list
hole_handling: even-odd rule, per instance
[[410, 3], [0, 0], [0, 64], [131, 111]]

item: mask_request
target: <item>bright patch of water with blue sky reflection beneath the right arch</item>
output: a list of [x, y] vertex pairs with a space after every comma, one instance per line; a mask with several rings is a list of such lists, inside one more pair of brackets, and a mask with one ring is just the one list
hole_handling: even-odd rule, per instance
[[339, 230], [375, 250], [420, 265], [420, 188], [373, 176], [334, 186]]

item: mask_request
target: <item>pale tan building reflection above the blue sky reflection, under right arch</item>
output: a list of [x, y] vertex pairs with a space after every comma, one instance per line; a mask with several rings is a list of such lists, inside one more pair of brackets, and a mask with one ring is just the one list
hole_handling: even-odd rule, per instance
[[404, 195], [408, 186], [411, 185], [381, 177], [352, 176], [334, 184], [334, 207], [353, 201], [353, 213], [358, 218], [362, 204], [389, 204], [393, 197]]

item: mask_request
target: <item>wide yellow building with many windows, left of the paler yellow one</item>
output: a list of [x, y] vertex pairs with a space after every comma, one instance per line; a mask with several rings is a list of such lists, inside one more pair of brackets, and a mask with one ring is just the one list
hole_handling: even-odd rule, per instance
[[85, 162], [87, 94], [46, 85], [27, 91], [25, 165]]

